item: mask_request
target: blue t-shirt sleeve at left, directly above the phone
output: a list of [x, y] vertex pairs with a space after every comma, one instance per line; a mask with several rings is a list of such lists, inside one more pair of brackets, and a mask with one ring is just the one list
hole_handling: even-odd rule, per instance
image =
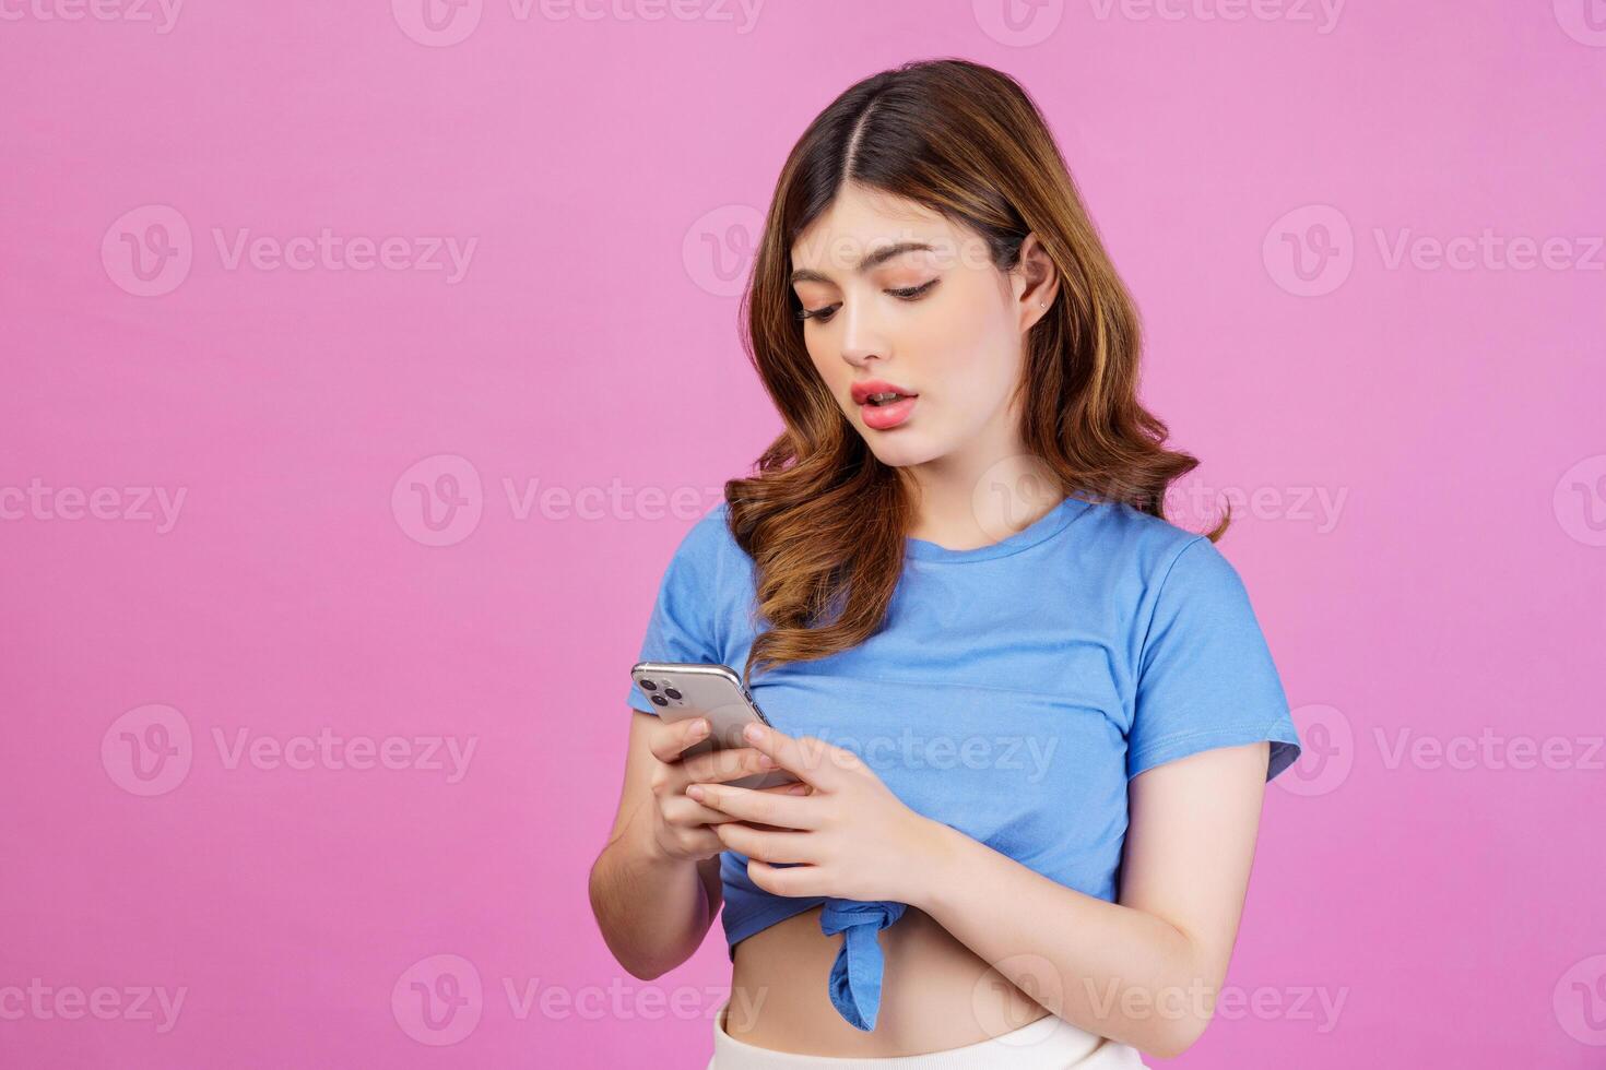
[[[681, 539], [658, 582], [658, 598], [636, 661], [721, 664], [715, 606], [723, 579], [723, 510], [716, 507]], [[630, 704], [647, 714], [658, 712], [634, 680]]]

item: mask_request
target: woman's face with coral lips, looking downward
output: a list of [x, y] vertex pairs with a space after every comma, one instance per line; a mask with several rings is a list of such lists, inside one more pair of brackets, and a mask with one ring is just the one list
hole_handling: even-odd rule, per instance
[[[1034, 236], [1028, 252], [1046, 261]], [[1021, 452], [1009, 398], [1046, 284], [999, 271], [980, 236], [923, 205], [851, 183], [798, 236], [792, 268], [809, 358], [883, 464], [980, 472]], [[914, 396], [861, 404], [866, 383]]]

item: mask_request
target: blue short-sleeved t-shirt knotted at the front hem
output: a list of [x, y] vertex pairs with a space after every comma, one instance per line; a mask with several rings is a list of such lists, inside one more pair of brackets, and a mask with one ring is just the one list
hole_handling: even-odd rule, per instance
[[[641, 661], [726, 664], [740, 675], [756, 637], [753, 561], [726, 515], [719, 502], [676, 549]], [[1107, 902], [1116, 898], [1132, 776], [1261, 740], [1270, 741], [1267, 780], [1299, 756], [1232, 563], [1204, 536], [1078, 497], [993, 545], [907, 539], [875, 635], [756, 672], [750, 690], [776, 728], [853, 751], [911, 810]], [[630, 706], [657, 712], [634, 683]], [[734, 850], [719, 873], [732, 959], [755, 932], [825, 905], [822, 927], [845, 932], [832, 1001], [872, 1028], [874, 934], [903, 906], [772, 895]]]

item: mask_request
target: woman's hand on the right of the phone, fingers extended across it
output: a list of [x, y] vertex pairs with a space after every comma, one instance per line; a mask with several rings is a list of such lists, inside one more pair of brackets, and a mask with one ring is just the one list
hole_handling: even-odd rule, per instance
[[[906, 807], [851, 751], [758, 723], [744, 735], [803, 781], [793, 791], [808, 794], [724, 783], [691, 784], [686, 794], [739, 818], [711, 828], [726, 847], [748, 857], [753, 884], [774, 895], [919, 905], [920, 874], [935, 868], [948, 826]], [[769, 865], [776, 861], [805, 865]]]

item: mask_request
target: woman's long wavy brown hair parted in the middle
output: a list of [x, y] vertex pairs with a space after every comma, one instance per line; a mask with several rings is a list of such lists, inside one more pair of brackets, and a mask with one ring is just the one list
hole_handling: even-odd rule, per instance
[[1026, 448], [1063, 494], [1164, 517], [1166, 486], [1198, 465], [1163, 448], [1166, 425], [1137, 403], [1137, 310], [1025, 88], [964, 59], [864, 79], [787, 157], [742, 297], [744, 348], [785, 422], [756, 475], [724, 484], [731, 534], [755, 565], [755, 624], [769, 626], [744, 680], [862, 643], [903, 573], [907, 489], [821, 380], [790, 286], [792, 245], [848, 181], [968, 228], [1001, 271], [1018, 263], [1028, 233], [1042, 242], [1062, 284], [1026, 338], [1015, 399]]

